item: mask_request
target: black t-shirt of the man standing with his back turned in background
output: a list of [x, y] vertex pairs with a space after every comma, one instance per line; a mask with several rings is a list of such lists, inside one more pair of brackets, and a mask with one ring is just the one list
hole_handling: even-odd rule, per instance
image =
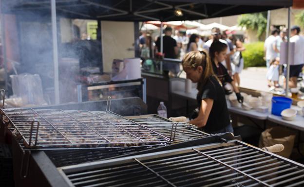
[[[160, 37], [157, 38], [155, 43], [158, 51], [160, 51]], [[176, 58], [174, 47], [176, 47], [176, 40], [171, 36], [163, 36], [163, 53], [165, 58]]]

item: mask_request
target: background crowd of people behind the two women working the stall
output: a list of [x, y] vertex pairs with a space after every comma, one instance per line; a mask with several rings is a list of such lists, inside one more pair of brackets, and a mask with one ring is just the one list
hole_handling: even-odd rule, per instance
[[[212, 28], [210, 36], [201, 36], [199, 34], [183, 34], [175, 30], [172, 35], [172, 28], [164, 29], [163, 37], [163, 54], [165, 58], [182, 59], [183, 56], [190, 51], [201, 51], [209, 48], [213, 41], [220, 41], [227, 45], [226, 58], [221, 62], [227, 68], [228, 74], [233, 78], [235, 84], [240, 86], [240, 76], [244, 68], [244, 59], [242, 51], [245, 50], [241, 39], [232, 34], [227, 34], [228, 31], [221, 32], [219, 28]], [[147, 41], [147, 42], [146, 42]], [[157, 52], [160, 52], [160, 36], [154, 39], [149, 33], [142, 33], [139, 37], [140, 57], [143, 60], [154, 58]], [[173, 72], [178, 72], [179, 67], [176, 64], [166, 63], [165, 69], [168, 68]], [[167, 66], [167, 67], [166, 67]]]

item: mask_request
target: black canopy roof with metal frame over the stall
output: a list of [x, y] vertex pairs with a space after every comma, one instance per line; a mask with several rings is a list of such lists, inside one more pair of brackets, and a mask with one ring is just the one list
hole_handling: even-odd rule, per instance
[[[2, 12], [50, 14], [50, 0], [2, 1]], [[176, 21], [262, 12], [292, 6], [292, 0], [56, 0], [57, 15], [114, 21]], [[174, 15], [180, 9], [182, 17]]]

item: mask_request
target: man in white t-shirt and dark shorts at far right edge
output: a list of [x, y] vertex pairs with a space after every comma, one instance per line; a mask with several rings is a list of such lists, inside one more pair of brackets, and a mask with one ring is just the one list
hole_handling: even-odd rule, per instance
[[[288, 85], [290, 88], [297, 87], [297, 78], [302, 71], [304, 65], [304, 38], [299, 35], [300, 27], [293, 26], [290, 28], [290, 42], [295, 43], [295, 51], [294, 51], [294, 62], [291, 62], [289, 69], [289, 82]], [[285, 68], [286, 69], [286, 68]], [[285, 77], [286, 77], [285, 70]]]

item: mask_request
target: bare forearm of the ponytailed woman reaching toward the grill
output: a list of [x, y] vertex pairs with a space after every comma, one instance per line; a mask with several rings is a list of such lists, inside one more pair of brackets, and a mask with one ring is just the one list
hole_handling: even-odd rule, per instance
[[207, 120], [209, 118], [210, 111], [213, 106], [213, 100], [212, 99], [203, 99], [201, 108], [198, 113], [198, 117], [190, 120], [188, 123], [192, 125], [196, 125], [197, 127], [204, 127], [207, 123]]

